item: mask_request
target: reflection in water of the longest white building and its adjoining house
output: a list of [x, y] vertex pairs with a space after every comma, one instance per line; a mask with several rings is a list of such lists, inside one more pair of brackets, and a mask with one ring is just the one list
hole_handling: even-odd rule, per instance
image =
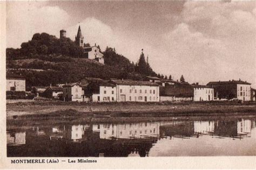
[[99, 124], [92, 131], [99, 132], [100, 139], [158, 138], [159, 123]]

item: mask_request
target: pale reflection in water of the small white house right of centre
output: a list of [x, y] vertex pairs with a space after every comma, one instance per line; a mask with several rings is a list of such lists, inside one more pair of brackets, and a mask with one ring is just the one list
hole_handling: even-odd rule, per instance
[[214, 121], [194, 121], [194, 133], [209, 134], [214, 132]]

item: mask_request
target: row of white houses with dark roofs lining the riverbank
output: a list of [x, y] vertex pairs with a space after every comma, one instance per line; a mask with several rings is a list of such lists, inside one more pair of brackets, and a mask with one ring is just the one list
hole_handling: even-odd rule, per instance
[[[8, 74], [6, 92], [25, 91], [25, 77]], [[45, 87], [36, 90], [43, 97], [60, 98], [64, 101], [210, 101], [244, 100], [255, 101], [255, 89], [241, 80], [212, 81], [207, 85], [145, 77], [143, 81], [100, 78], [85, 78], [79, 83], [60, 84], [58, 87]], [[9, 93], [8, 93], [9, 94]], [[10, 93], [12, 94], [12, 93]]]

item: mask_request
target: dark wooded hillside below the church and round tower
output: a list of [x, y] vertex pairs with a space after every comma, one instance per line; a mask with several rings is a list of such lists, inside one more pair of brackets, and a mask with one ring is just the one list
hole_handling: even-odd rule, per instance
[[[148, 67], [146, 72], [138, 72], [142, 70], [138, 69], [139, 66], [111, 47], [103, 51], [104, 65], [94, 60], [80, 59], [82, 54], [82, 47], [76, 46], [69, 38], [58, 39], [47, 33], [36, 33], [29, 42], [22, 43], [21, 49], [6, 49], [6, 69], [25, 76], [27, 90], [32, 86], [76, 82], [84, 77], [139, 80], [143, 76], [157, 75], [149, 63], [143, 66]], [[145, 60], [144, 57], [140, 58]]]

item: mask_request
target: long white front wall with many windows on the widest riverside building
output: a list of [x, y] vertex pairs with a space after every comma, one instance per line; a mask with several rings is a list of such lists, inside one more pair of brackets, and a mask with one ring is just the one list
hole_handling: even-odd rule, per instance
[[[120, 92], [121, 89], [122, 89], [122, 92]], [[140, 90], [142, 91], [142, 93], [140, 93]], [[151, 93], [150, 93], [150, 90], [151, 90]], [[154, 94], [153, 94], [153, 90], [154, 90]], [[139, 97], [142, 97], [142, 99], [139, 99]], [[117, 101], [144, 101], [145, 102], [145, 97], [147, 102], [160, 101], [159, 86], [117, 85]]]

